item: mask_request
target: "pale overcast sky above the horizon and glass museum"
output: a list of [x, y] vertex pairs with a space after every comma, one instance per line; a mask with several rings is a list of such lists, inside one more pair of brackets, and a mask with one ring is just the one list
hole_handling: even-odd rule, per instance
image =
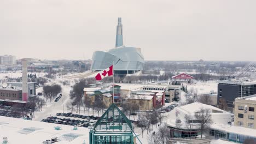
[[256, 61], [256, 1], [1, 0], [0, 55], [91, 59], [125, 46], [145, 60]]

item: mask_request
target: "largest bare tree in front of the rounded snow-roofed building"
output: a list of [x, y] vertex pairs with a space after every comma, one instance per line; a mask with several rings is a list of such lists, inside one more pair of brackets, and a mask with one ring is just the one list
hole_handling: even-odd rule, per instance
[[211, 111], [209, 109], [200, 109], [195, 112], [195, 118], [199, 121], [202, 138], [202, 132], [210, 127], [210, 124], [212, 123]]

